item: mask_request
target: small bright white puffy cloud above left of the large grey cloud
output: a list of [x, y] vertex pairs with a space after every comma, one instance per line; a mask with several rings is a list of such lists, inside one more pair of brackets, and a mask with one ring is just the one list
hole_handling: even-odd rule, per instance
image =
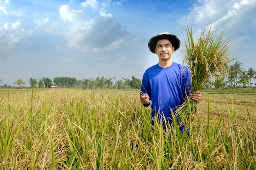
[[59, 9], [60, 17], [64, 21], [75, 22], [84, 18], [83, 11], [76, 11], [75, 9], [70, 9], [67, 5], [62, 5]]

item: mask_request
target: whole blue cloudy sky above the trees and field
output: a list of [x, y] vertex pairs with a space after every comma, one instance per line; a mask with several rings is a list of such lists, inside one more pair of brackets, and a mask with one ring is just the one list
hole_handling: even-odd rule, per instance
[[256, 0], [0, 0], [0, 79], [142, 79], [158, 62], [148, 41], [175, 34], [182, 64], [186, 26], [231, 37], [231, 57], [256, 69]]

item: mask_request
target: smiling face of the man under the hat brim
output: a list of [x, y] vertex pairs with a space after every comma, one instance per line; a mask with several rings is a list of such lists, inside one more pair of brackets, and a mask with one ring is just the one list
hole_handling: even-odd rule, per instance
[[159, 57], [159, 60], [170, 60], [173, 52], [174, 46], [172, 46], [169, 40], [159, 40], [157, 42], [155, 53]]

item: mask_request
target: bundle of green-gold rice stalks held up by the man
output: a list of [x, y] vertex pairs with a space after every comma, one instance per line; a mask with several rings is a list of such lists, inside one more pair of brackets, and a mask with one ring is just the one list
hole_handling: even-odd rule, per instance
[[[232, 60], [228, 55], [231, 38], [222, 40], [224, 31], [216, 37], [216, 31], [206, 28], [194, 41], [192, 27], [189, 30], [186, 26], [188, 40], [185, 40], [182, 52], [185, 53], [183, 65], [191, 71], [191, 93], [202, 90], [213, 77], [228, 76], [227, 64]], [[189, 120], [193, 121], [191, 118], [198, 112], [198, 103], [188, 97], [176, 115], [181, 124], [187, 124]]]

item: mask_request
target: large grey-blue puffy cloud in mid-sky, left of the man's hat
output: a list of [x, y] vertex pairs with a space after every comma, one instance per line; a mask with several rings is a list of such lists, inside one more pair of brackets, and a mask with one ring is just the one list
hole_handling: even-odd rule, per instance
[[124, 46], [133, 38], [133, 34], [122, 28], [121, 24], [111, 16], [100, 16], [92, 21], [90, 29], [83, 30], [78, 43], [83, 51], [110, 51]]

